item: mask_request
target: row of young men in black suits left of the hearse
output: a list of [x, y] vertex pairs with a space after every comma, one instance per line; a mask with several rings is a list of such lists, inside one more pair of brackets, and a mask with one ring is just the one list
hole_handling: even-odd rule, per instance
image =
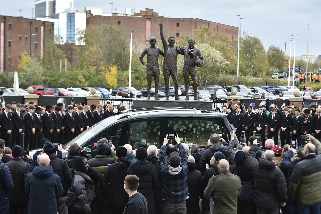
[[0, 138], [4, 139], [7, 145], [19, 145], [24, 150], [41, 148], [43, 145], [40, 142], [43, 138], [52, 143], [67, 143], [118, 111], [126, 111], [122, 102], [114, 109], [112, 104], [88, 106], [72, 101], [67, 107], [65, 103], [41, 107], [33, 102], [21, 104], [13, 101], [0, 109]]

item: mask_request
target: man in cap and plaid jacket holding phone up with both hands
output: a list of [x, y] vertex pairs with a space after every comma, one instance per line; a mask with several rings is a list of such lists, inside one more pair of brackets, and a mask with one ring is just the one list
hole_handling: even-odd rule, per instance
[[180, 143], [178, 135], [175, 135], [175, 142], [179, 149], [180, 156], [177, 152], [169, 155], [169, 165], [165, 161], [165, 149], [169, 139], [164, 138], [164, 143], [160, 147], [159, 164], [160, 172], [163, 176], [162, 197], [164, 200], [163, 214], [177, 213], [187, 214], [186, 202], [188, 198], [187, 188], [187, 170], [188, 158], [186, 150]]

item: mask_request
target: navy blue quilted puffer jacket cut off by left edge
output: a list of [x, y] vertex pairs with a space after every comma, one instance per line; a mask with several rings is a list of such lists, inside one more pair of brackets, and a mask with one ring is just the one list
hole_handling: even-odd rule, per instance
[[[0, 164], [2, 161], [0, 160]], [[11, 178], [11, 173], [7, 165], [3, 165], [0, 169], [0, 185], [1, 185], [1, 197], [0, 203], [9, 202], [9, 191], [13, 189], [13, 181]]]

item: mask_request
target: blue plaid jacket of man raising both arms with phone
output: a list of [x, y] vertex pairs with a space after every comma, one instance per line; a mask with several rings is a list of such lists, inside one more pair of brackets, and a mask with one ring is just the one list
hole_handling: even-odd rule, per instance
[[169, 172], [169, 165], [165, 161], [166, 146], [162, 145], [160, 147], [160, 154], [158, 156], [160, 164], [160, 172], [163, 176], [163, 188], [162, 197], [169, 202], [179, 203], [184, 201], [188, 196], [187, 188], [187, 171], [188, 171], [188, 158], [186, 150], [182, 144], [178, 144], [181, 167], [182, 170], [176, 174], [172, 175]]

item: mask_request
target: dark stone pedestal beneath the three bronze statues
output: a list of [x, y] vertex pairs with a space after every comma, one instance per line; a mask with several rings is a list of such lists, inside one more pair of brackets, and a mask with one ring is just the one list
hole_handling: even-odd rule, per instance
[[202, 100], [133, 100], [132, 109], [157, 108], [157, 107], [176, 107], [176, 108], [195, 108], [213, 111], [213, 102]]

